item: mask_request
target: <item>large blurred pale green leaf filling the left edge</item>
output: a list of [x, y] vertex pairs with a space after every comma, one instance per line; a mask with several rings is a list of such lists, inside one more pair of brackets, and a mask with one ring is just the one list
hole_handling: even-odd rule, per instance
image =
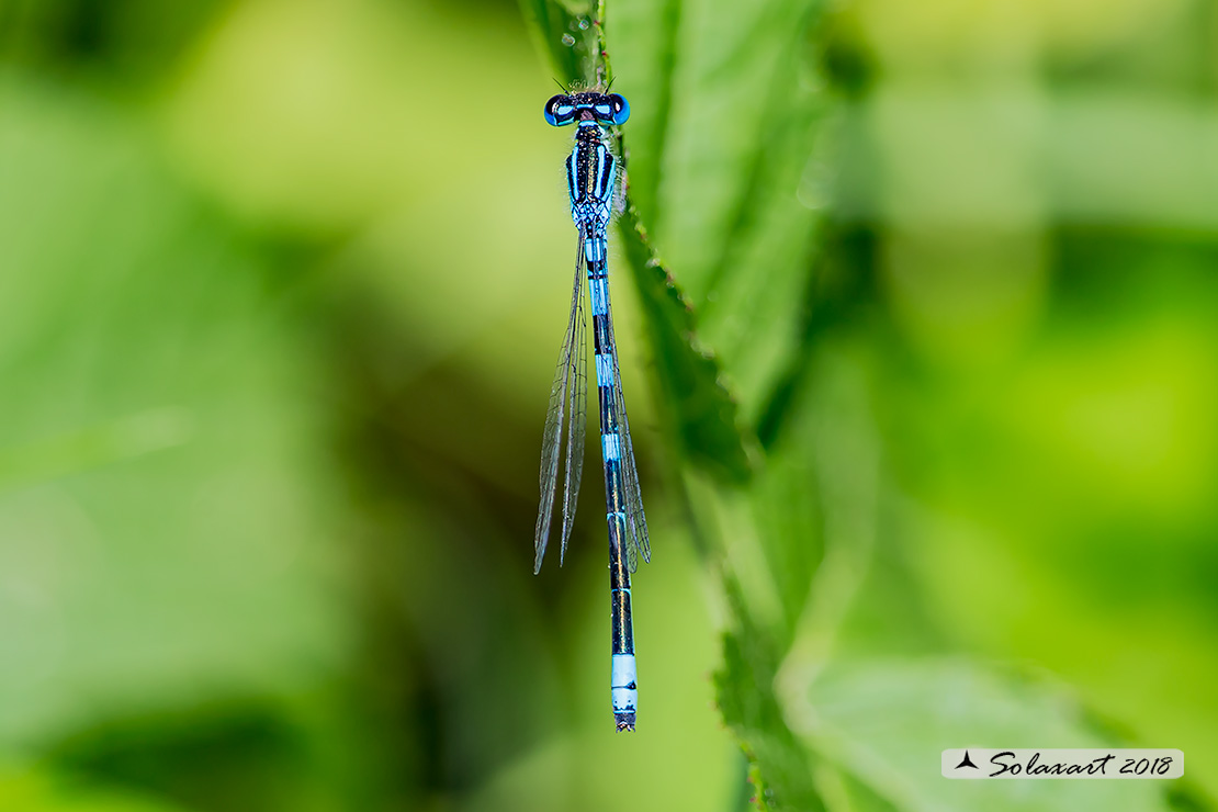
[[0, 78], [0, 747], [329, 673], [308, 362], [134, 124]]

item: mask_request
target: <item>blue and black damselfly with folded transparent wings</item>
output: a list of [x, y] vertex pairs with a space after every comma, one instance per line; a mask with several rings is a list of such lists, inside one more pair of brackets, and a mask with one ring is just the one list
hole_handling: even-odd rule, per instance
[[[583, 275], [588, 278], [592, 304], [592, 337], [596, 351], [597, 393], [600, 396], [600, 452], [605, 470], [605, 506], [609, 520], [609, 590], [611, 606], [613, 667], [610, 670], [613, 713], [619, 730], [635, 729], [638, 689], [635, 674], [635, 632], [630, 605], [630, 573], [638, 559], [650, 560], [647, 517], [638, 492], [635, 448], [630, 442], [626, 404], [621, 397], [621, 371], [609, 304], [609, 270], [605, 261], [605, 230], [618, 201], [618, 159], [609, 149], [607, 128], [630, 116], [630, 105], [620, 95], [574, 93], [546, 102], [546, 121], [554, 127], [576, 124], [575, 147], [566, 158], [566, 185], [571, 195], [571, 219], [579, 231], [575, 282], [566, 337], [558, 357], [554, 383], [549, 390], [549, 413], [541, 450], [541, 509], [537, 513], [533, 572], [541, 571], [549, 538], [549, 520], [558, 487], [559, 458], [566, 448], [563, 488], [563, 538], [559, 562], [575, 522], [575, 500], [583, 467], [583, 429], [587, 418], [587, 315], [583, 307]], [[564, 443], [565, 435], [565, 443]]]

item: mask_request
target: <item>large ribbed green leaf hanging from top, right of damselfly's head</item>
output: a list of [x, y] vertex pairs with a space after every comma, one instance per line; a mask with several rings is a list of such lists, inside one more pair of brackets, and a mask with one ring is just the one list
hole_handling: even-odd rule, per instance
[[[698, 314], [745, 425], [800, 351], [831, 100], [810, 0], [613, 4], [631, 196]], [[636, 131], [638, 136], [636, 138]]]

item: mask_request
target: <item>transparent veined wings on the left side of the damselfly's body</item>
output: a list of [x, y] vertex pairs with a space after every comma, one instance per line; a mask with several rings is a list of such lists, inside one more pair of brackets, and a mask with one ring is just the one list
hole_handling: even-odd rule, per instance
[[554, 513], [554, 491], [558, 488], [558, 464], [563, 457], [563, 429], [566, 429], [566, 474], [563, 486], [563, 536], [559, 564], [566, 554], [566, 543], [575, 523], [575, 503], [580, 494], [583, 471], [583, 437], [587, 424], [587, 312], [583, 304], [583, 245], [579, 246], [575, 281], [571, 285], [571, 313], [566, 321], [566, 337], [558, 354], [554, 382], [549, 387], [549, 410], [541, 446], [541, 505], [533, 537], [533, 575], [541, 572], [549, 541], [549, 522]]

